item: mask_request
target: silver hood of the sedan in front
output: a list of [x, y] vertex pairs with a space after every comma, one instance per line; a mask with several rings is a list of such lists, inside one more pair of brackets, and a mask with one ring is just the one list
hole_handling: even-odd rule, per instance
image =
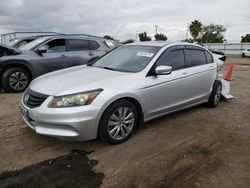
[[30, 89], [52, 96], [67, 95], [104, 89], [117, 83], [114, 80], [133, 74], [85, 65], [77, 66], [38, 77], [32, 81]]

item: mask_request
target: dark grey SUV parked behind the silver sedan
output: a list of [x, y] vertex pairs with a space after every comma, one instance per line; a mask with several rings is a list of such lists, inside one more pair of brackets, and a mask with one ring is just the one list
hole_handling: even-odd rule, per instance
[[24, 91], [40, 75], [89, 63], [110, 49], [104, 39], [74, 36], [46, 36], [0, 58], [0, 78], [5, 91]]

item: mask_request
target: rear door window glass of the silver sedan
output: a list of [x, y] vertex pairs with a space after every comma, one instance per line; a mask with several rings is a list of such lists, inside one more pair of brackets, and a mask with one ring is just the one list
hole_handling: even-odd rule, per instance
[[203, 50], [187, 50], [191, 67], [205, 65], [207, 63], [206, 56]]

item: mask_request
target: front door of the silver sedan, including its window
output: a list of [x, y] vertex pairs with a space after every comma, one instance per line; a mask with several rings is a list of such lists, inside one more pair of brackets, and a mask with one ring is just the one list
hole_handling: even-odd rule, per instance
[[147, 118], [181, 108], [189, 98], [184, 46], [175, 46], [163, 52], [154, 66], [160, 65], [172, 66], [173, 71], [168, 75], [146, 77]]

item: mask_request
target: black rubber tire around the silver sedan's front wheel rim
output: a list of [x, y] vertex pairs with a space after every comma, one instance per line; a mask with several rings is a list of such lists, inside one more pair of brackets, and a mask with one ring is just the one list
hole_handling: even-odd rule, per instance
[[[131, 132], [128, 134], [126, 138], [121, 139], [121, 140], [114, 140], [108, 133], [108, 121], [109, 121], [110, 116], [113, 114], [113, 112], [116, 111], [120, 107], [129, 107], [133, 111], [134, 117], [135, 117], [135, 123], [134, 123], [134, 127], [132, 128]], [[103, 113], [102, 118], [99, 123], [99, 131], [98, 131], [99, 137], [103, 141], [106, 141], [110, 144], [120, 144], [122, 142], [125, 142], [132, 136], [137, 125], [138, 125], [138, 110], [136, 109], [136, 106], [128, 100], [119, 100], [119, 101], [112, 103]]]

